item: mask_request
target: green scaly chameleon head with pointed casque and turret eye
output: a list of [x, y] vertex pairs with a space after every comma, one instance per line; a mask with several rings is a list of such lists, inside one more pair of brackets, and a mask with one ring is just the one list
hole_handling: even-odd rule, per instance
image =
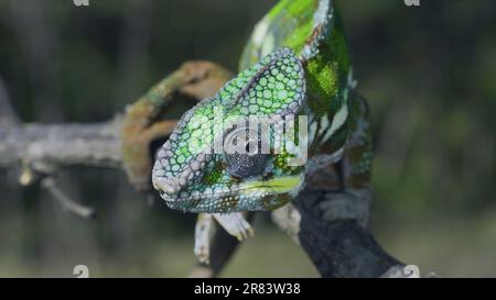
[[281, 143], [281, 129], [304, 100], [295, 54], [280, 48], [265, 56], [183, 115], [158, 153], [153, 187], [183, 211], [282, 205], [301, 188], [304, 170], [288, 164], [294, 152]]

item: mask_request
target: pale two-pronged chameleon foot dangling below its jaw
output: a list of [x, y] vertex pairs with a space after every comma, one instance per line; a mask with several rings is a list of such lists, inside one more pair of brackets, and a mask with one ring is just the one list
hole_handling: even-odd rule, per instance
[[194, 253], [198, 260], [209, 264], [212, 231], [215, 221], [231, 236], [242, 241], [254, 235], [254, 230], [241, 212], [235, 213], [198, 213], [195, 226]]

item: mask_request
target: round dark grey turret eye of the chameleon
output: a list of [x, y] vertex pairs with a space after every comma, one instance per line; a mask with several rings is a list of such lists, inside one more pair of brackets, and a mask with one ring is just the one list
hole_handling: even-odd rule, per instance
[[235, 177], [259, 175], [267, 165], [268, 155], [262, 153], [262, 141], [257, 131], [239, 129], [224, 138], [224, 157], [227, 171]]

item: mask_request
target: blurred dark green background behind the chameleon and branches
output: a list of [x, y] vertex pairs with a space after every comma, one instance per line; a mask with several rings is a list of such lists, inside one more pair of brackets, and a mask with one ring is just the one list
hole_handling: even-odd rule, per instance
[[[335, 0], [373, 112], [371, 230], [422, 274], [496, 276], [496, 2]], [[276, 0], [0, 0], [0, 82], [25, 122], [96, 122], [188, 59], [236, 70]], [[0, 169], [0, 276], [183, 277], [195, 215], [132, 190], [120, 170], [72, 168], [85, 220]], [[222, 276], [317, 277], [259, 215]], [[262, 247], [263, 245], [263, 247]]]

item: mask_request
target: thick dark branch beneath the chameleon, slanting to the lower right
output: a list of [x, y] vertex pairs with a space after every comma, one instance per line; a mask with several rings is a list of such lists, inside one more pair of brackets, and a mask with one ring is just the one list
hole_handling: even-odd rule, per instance
[[[380, 277], [402, 265], [377, 244], [360, 224], [362, 218], [330, 218], [326, 211], [333, 210], [335, 201], [332, 192], [312, 190], [303, 191], [294, 201], [301, 214], [300, 244], [323, 277]], [[360, 210], [356, 212], [358, 216]]]

